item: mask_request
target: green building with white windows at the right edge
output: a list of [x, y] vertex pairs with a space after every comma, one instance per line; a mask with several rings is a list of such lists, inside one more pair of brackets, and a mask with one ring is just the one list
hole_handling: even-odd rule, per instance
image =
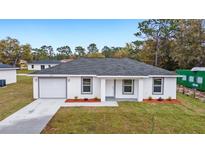
[[191, 70], [179, 69], [176, 71], [181, 77], [177, 78], [177, 84], [188, 88], [196, 88], [205, 91], [205, 68], [194, 67]]

